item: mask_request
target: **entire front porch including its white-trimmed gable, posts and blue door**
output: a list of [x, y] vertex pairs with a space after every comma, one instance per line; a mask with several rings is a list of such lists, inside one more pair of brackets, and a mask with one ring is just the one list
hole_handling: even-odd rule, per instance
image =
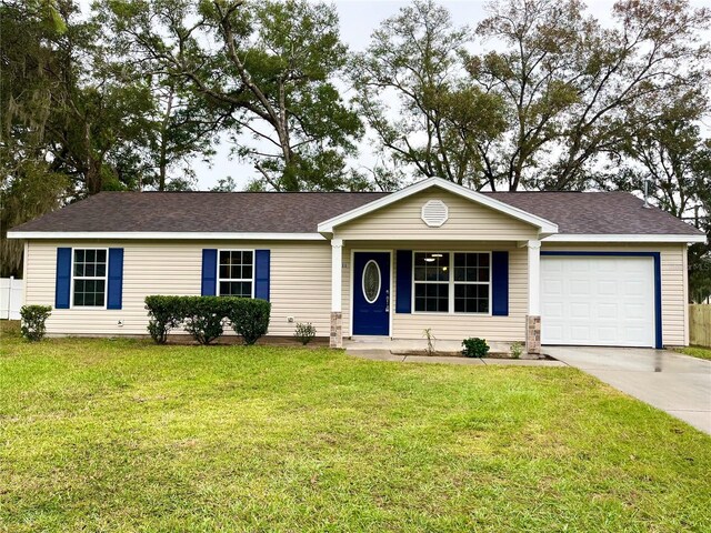
[[378, 335], [482, 338], [540, 353], [541, 239], [558, 227], [442, 180], [324, 221], [330, 344]]

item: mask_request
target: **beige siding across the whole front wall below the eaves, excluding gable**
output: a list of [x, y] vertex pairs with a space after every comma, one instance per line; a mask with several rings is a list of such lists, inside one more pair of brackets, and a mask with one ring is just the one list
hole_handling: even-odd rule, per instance
[[[450, 213], [451, 214], [451, 213]], [[374, 245], [375, 244], [375, 245]], [[147, 294], [200, 294], [202, 249], [270, 249], [270, 299], [272, 316], [270, 335], [291, 335], [294, 324], [312, 322], [319, 336], [328, 336], [330, 326], [331, 247], [323, 242], [42, 242], [27, 245], [26, 302], [54, 305], [56, 263], [58, 247], [123, 248], [123, 309], [54, 310], [48, 321], [50, 334], [143, 335], [148, 322], [143, 299]], [[351, 335], [351, 263], [353, 250], [387, 250], [395, 261], [397, 250], [423, 251], [491, 251], [509, 250], [509, 316], [394, 312], [397, 302], [394, 275], [391, 273], [391, 335], [420, 339], [431, 328], [438, 339], [459, 340], [483, 336], [491, 341], [522, 341], [528, 308], [528, 258], [525, 248], [515, 243], [407, 241], [347, 241], [343, 249], [342, 310], [343, 335]], [[555, 244], [543, 241], [542, 250], [559, 251], [650, 251], [661, 252], [662, 336], [665, 345], [688, 343], [687, 271], [684, 244]], [[118, 322], [123, 325], [119, 326]]]

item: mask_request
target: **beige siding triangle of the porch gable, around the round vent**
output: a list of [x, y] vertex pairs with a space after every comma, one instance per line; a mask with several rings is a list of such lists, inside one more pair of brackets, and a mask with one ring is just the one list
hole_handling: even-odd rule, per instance
[[[422, 205], [428, 200], [441, 200], [449, 208], [449, 219], [440, 228], [430, 228], [421, 219]], [[336, 228], [336, 237], [339, 239], [369, 241], [510, 241], [535, 239], [537, 235], [538, 229], [531, 224], [437, 188]]]

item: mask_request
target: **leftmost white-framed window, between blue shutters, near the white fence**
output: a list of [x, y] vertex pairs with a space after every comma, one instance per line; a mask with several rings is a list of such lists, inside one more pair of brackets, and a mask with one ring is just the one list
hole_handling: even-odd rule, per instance
[[72, 306], [104, 308], [107, 305], [106, 248], [73, 249], [72, 251]]

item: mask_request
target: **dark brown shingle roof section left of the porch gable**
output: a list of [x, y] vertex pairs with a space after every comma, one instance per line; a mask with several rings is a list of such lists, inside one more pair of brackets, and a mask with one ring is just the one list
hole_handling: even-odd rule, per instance
[[314, 233], [377, 192], [100, 192], [17, 231]]

